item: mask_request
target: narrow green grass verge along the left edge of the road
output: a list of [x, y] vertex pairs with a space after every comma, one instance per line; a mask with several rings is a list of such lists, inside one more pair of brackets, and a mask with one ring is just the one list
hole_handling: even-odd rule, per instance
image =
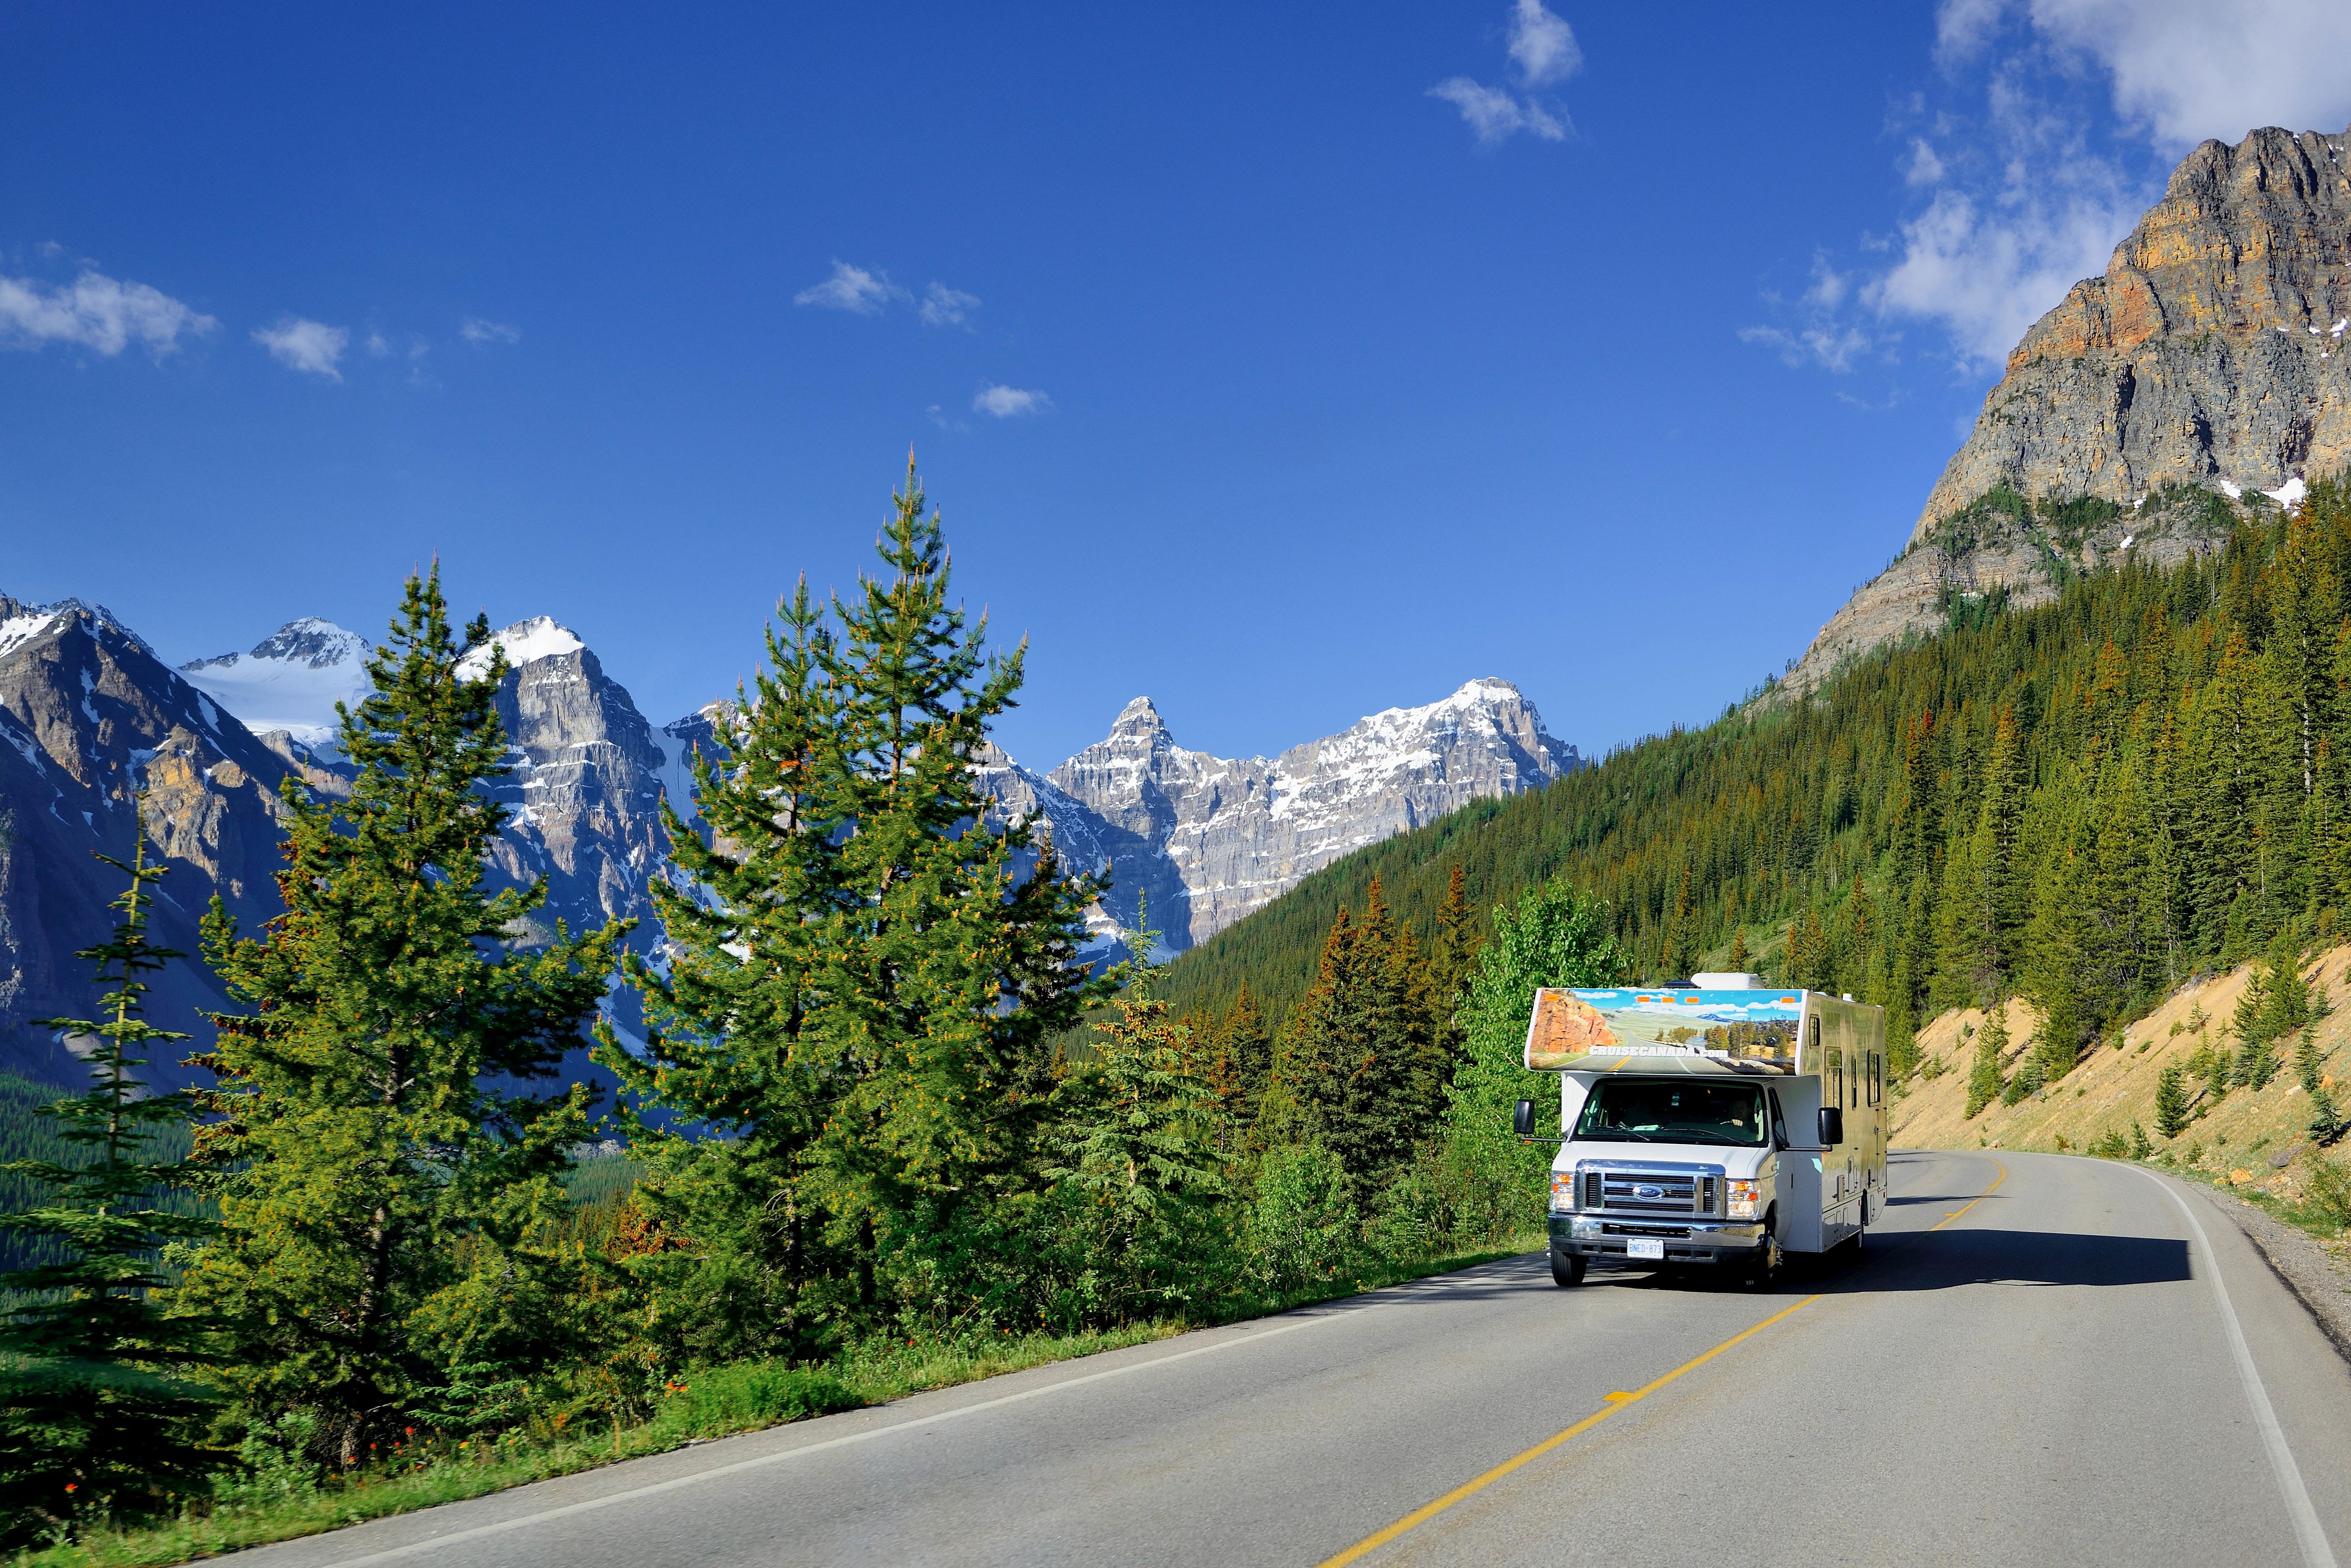
[[1124, 1349], [1166, 1340], [1190, 1328], [1232, 1324], [1272, 1312], [1288, 1312], [1364, 1291], [1448, 1274], [1479, 1262], [1512, 1258], [1545, 1246], [1542, 1237], [1516, 1237], [1512, 1246], [1446, 1253], [1418, 1262], [1380, 1262], [1349, 1269], [1345, 1279], [1293, 1291], [1279, 1298], [1241, 1302], [1204, 1321], [1152, 1319], [1086, 1333], [1032, 1333], [952, 1340], [868, 1340], [828, 1366], [788, 1366], [781, 1361], [736, 1361], [694, 1373], [661, 1401], [654, 1418], [639, 1427], [571, 1434], [557, 1441], [520, 1436], [501, 1441], [426, 1443], [397, 1460], [397, 1467], [371, 1467], [348, 1479], [315, 1486], [284, 1486], [275, 1495], [242, 1486], [221, 1500], [190, 1507], [172, 1521], [143, 1523], [129, 1530], [96, 1528], [82, 1540], [40, 1552], [24, 1552], [12, 1568], [158, 1568], [190, 1559], [219, 1556], [240, 1547], [261, 1547], [296, 1535], [317, 1535], [348, 1523], [411, 1514], [442, 1502], [461, 1502], [484, 1493], [569, 1476], [597, 1465], [668, 1453], [686, 1443], [738, 1432], [757, 1432], [832, 1410], [889, 1403], [924, 1389], [976, 1382], [1030, 1366], [1070, 1361], [1105, 1349]]

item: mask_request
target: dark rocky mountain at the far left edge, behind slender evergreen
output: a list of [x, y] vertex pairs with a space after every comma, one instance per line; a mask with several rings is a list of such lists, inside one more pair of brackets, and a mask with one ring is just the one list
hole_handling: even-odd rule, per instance
[[[66, 1046], [28, 1020], [87, 1016], [89, 966], [106, 938], [139, 790], [146, 830], [172, 867], [153, 933], [197, 952], [195, 922], [219, 893], [254, 929], [277, 912], [277, 783], [299, 764], [155, 658], [94, 604], [0, 597], [0, 1067], [47, 1081], [78, 1077]], [[172, 964], [148, 1018], [195, 1030], [221, 1009], [209, 973]], [[153, 1058], [158, 1077], [176, 1053]]]

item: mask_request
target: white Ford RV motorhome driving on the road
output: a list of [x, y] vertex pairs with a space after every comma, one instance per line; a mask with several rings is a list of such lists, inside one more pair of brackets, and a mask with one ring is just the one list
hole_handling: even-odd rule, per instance
[[[1883, 1213], [1886, 1009], [1721, 983], [1540, 990], [1526, 1065], [1559, 1074], [1549, 1229], [1563, 1286], [1592, 1262], [1761, 1284], [1787, 1253], [1860, 1246]], [[1552, 1140], [1533, 1100], [1516, 1131]]]

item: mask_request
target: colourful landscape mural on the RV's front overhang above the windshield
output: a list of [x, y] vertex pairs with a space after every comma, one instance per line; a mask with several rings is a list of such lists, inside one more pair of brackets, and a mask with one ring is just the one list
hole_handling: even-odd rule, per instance
[[1540, 990], [1526, 1027], [1533, 1072], [1587, 1056], [1686, 1056], [1794, 1063], [1803, 992]]

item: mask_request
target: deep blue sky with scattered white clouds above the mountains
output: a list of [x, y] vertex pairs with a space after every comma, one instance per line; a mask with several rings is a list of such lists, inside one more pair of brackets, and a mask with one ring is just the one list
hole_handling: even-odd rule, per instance
[[658, 724], [907, 444], [1053, 764], [1516, 679], [1704, 722], [2351, 7], [0, 9], [0, 592], [167, 656], [451, 597]]

